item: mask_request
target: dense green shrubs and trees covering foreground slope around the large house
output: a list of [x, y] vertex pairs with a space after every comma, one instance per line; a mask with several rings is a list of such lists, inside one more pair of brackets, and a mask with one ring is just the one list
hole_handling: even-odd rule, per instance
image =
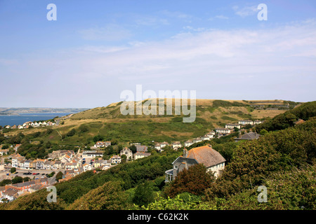
[[[84, 172], [56, 184], [57, 203], [46, 202], [45, 190], [20, 197], [0, 209], [315, 209], [316, 102], [289, 111], [305, 118], [270, 130], [260, 139], [213, 139], [230, 160], [214, 180], [205, 167], [190, 167], [176, 181], [164, 183], [180, 151], [166, 150], [127, 162], [105, 172]], [[277, 118], [273, 118], [275, 120]], [[195, 146], [192, 146], [195, 147]], [[258, 186], [265, 186], [268, 202], [258, 202]], [[179, 190], [180, 189], [180, 190]]]

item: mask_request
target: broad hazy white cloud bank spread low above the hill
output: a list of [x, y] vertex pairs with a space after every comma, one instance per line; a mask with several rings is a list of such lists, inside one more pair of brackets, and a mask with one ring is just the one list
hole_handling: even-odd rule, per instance
[[[46, 92], [63, 99], [69, 92], [81, 96], [84, 90], [84, 97], [95, 100], [91, 102], [95, 106], [102, 106], [105, 99], [117, 100], [113, 97], [121, 90], [133, 90], [136, 84], [151, 90], [197, 90], [197, 97], [209, 99], [313, 100], [315, 22], [192, 33], [193, 27], [183, 28], [187, 31], [164, 41], [89, 45], [27, 57], [14, 66], [26, 78], [17, 79], [15, 74], [11, 78], [16, 85], [27, 81], [45, 87], [43, 99]], [[48, 85], [48, 79], [55, 85]], [[72, 103], [82, 105], [82, 99], [74, 97]]]

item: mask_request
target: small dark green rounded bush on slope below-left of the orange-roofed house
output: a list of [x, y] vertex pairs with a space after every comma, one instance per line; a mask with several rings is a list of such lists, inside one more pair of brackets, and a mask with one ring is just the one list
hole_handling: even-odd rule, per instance
[[134, 193], [133, 203], [140, 207], [143, 205], [147, 207], [152, 202], [154, 202], [154, 191], [150, 183], [147, 181], [138, 185]]

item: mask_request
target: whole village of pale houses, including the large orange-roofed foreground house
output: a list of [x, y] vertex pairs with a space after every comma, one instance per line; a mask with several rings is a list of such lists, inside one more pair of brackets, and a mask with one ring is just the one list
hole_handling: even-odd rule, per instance
[[[197, 153], [191, 152], [193, 149], [188, 153], [185, 149], [186, 147], [192, 146], [192, 144], [196, 144], [201, 141], [209, 141], [213, 138], [224, 137], [228, 134], [232, 134], [233, 132], [239, 132], [239, 136], [235, 138], [235, 141], [258, 139], [260, 134], [257, 134], [256, 132], [246, 132], [243, 127], [246, 125], [251, 125], [252, 127], [253, 125], [258, 125], [260, 123], [263, 123], [263, 121], [239, 120], [238, 123], [228, 123], [225, 127], [218, 127], [213, 131], [204, 134], [202, 137], [184, 141], [183, 144], [181, 144], [180, 141], [174, 141], [171, 144], [166, 141], [156, 142], [154, 144], [154, 148], [150, 148], [150, 150], [148, 146], [143, 146], [140, 143], [131, 143], [130, 145], [136, 148], [134, 153], [130, 148], [125, 147], [120, 151], [119, 155], [112, 155], [108, 160], [103, 159], [103, 152], [107, 147], [111, 146], [111, 141], [97, 141], [96, 144], [91, 146], [90, 150], [81, 152], [79, 149], [77, 153], [74, 151], [53, 151], [48, 154], [48, 158], [36, 160], [27, 160], [25, 157], [18, 154], [18, 147], [20, 145], [17, 144], [15, 146], [11, 146], [15, 153], [8, 155], [6, 157], [6, 162], [4, 162], [4, 158], [0, 160], [0, 181], [5, 179], [11, 180], [17, 175], [24, 178], [31, 176], [32, 180], [30, 178], [29, 181], [23, 181], [22, 183], [11, 183], [6, 186], [0, 186], [0, 203], [11, 202], [22, 195], [33, 193], [34, 191], [42, 188], [47, 188], [48, 186], [52, 186], [58, 182], [67, 181], [82, 172], [93, 171], [96, 173], [119, 165], [122, 160], [133, 161], [148, 157], [151, 155], [150, 151], [152, 150], [162, 153], [166, 147], [172, 148], [176, 151], [183, 148], [183, 156], [179, 159], [182, 163], [174, 165], [177, 169], [166, 171], [166, 182], [172, 181], [176, 177], [174, 170], [178, 170], [178, 172], [181, 170], [180, 167], [183, 164], [183, 160], [185, 160], [185, 158], [190, 158], [190, 155], [193, 156], [193, 158], [197, 156]], [[55, 123], [25, 123], [24, 125], [21, 125], [21, 127], [29, 128], [27, 125], [39, 127], [39, 125], [55, 125]], [[219, 153], [214, 151], [211, 146], [203, 147], [202, 151], [204, 152], [204, 155], [201, 155], [202, 157], [207, 158], [208, 156], [215, 156], [218, 158], [218, 162], [210, 165], [209, 169], [215, 172], [214, 175], [216, 175], [216, 177], [219, 176], [220, 171], [222, 171], [225, 167], [225, 160], [218, 155]], [[8, 152], [9, 149], [0, 149], [0, 156], [7, 155]], [[178, 159], [175, 162], [177, 161]], [[190, 163], [191, 160], [188, 161]], [[204, 164], [209, 164], [208, 161], [202, 162]], [[15, 168], [15, 172], [13, 173], [11, 172], [12, 168]], [[56, 179], [56, 174], [58, 172], [62, 172], [62, 178]], [[48, 174], [52, 173], [53, 176], [48, 176]]]

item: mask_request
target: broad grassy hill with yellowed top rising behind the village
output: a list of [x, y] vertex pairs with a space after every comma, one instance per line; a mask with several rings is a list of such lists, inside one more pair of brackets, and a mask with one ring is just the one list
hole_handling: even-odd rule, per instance
[[[148, 100], [153, 99], [144, 100], [143, 104]], [[186, 141], [187, 139], [200, 137], [216, 127], [224, 127], [226, 123], [235, 123], [238, 120], [248, 118], [272, 118], [286, 111], [284, 109], [257, 110], [251, 107], [255, 102], [197, 99], [197, 118], [195, 122], [183, 123], [183, 115], [174, 115], [174, 99], [173, 115], [164, 113], [162, 116], [123, 116], [120, 112], [121, 104], [122, 102], [118, 102], [106, 107], [76, 113], [68, 119], [61, 120], [60, 125], [54, 127], [53, 132], [48, 134], [46, 132], [48, 127], [13, 130], [6, 134], [15, 135], [22, 132], [27, 135], [41, 132], [34, 140], [50, 141], [53, 144], [60, 145], [91, 146], [93, 137], [96, 135], [100, 135], [103, 139], [109, 141], [116, 139], [119, 142], [132, 141], [152, 144], [152, 141]], [[284, 105], [287, 102], [282, 100], [270, 101], [270, 104]], [[74, 134], [68, 134], [72, 129], [75, 130]]]

